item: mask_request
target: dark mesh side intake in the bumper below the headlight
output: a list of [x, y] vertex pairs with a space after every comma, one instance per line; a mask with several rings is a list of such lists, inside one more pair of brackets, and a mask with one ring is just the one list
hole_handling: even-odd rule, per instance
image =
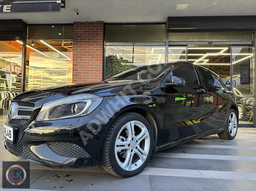
[[80, 146], [68, 142], [47, 142], [47, 146], [57, 155], [72, 158], [88, 158], [90, 155]]

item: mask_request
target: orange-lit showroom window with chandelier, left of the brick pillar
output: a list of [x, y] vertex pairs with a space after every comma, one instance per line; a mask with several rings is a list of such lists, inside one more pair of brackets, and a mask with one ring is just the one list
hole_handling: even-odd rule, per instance
[[72, 36], [73, 25], [28, 27], [25, 89], [72, 82]]

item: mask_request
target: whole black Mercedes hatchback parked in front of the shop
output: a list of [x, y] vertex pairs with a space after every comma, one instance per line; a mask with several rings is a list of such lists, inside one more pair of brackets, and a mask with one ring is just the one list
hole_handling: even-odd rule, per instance
[[99, 82], [26, 91], [4, 124], [13, 155], [50, 167], [129, 177], [152, 151], [218, 133], [232, 140], [238, 109], [215, 73], [186, 62], [145, 65]]

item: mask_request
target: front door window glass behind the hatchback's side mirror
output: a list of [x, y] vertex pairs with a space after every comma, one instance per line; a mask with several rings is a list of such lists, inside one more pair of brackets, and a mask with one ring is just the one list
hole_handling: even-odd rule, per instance
[[171, 75], [184, 78], [185, 85], [198, 85], [198, 77], [195, 68], [190, 65], [181, 65], [171, 72]]

